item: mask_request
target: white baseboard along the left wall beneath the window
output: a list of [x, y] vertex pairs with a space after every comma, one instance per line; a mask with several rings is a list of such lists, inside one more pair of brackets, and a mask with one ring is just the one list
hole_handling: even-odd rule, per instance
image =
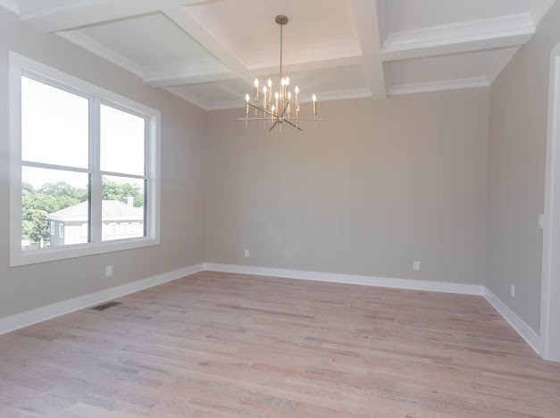
[[203, 264], [196, 264], [174, 272], [166, 272], [158, 276], [133, 281], [115, 288], [106, 288], [82, 297], [75, 297], [53, 305], [46, 305], [21, 314], [6, 316], [5, 318], [0, 319], [0, 335], [12, 330], [27, 327], [37, 322], [46, 321], [56, 316], [70, 314], [71, 312], [106, 302], [114, 299], [115, 297], [122, 297], [124, 295], [129, 295], [130, 293], [138, 292], [138, 290], [142, 290], [144, 288], [152, 288], [167, 281], [180, 279], [181, 277], [201, 272], [202, 270]]

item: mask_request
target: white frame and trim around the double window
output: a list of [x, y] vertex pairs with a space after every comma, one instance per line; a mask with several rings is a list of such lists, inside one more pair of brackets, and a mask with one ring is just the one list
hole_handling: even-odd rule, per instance
[[[101, 179], [99, 162], [99, 120], [89, 127], [89, 169], [91, 201], [90, 242], [64, 247], [21, 249], [21, 76], [46, 82], [79, 96], [92, 104], [108, 104], [146, 119], [146, 236], [101, 241]], [[161, 113], [104, 88], [97, 87], [63, 71], [38, 63], [20, 54], [9, 54], [10, 113], [10, 266], [44, 263], [85, 255], [96, 255], [160, 244], [161, 212]], [[91, 112], [91, 111], [90, 111]], [[98, 114], [98, 113], [96, 113]], [[91, 118], [90, 118], [91, 121]], [[93, 138], [93, 139], [92, 139]]]

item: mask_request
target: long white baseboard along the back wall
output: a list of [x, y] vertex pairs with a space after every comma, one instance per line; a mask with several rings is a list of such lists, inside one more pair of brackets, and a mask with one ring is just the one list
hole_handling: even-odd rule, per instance
[[255, 274], [259, 276], [284, 277], [288, 279], [330, 281], [334, 283], [377, 286], [380, 288], [408, 288], [427, 290], [430, 292], [459, 293], [464, 295], [482, 295], [481, 285], [447, 283], [443, 281], [391, 279], [384, 277], [359, 276], [355, 274], [339, 274], [326, 272], [305, 272], [299, 270], [269, 269], [237, 264], [204, 263], [204, 269], [213, 272], [232, 272]]

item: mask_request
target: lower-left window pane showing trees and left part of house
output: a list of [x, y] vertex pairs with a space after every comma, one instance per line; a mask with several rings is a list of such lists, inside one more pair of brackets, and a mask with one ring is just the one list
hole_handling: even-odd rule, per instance
[[21, 248], [37, 249], [89, 241], [88, 174], [21, 169]]

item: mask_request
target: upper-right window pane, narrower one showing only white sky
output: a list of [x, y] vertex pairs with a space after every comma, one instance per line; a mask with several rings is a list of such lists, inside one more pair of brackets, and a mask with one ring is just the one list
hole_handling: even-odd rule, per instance
[[101, 170], [144, 175], [146, 120], [101, 105]]

